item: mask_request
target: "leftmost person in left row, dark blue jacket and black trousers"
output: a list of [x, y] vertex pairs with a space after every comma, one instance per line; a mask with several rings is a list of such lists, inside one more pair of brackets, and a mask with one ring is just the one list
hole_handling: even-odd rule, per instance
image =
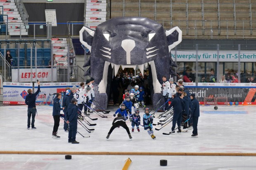
[[53, 99], [53, 109], [52, 109], [52, 116], [54, 119], [54, 126], [52, 130], [52, 138], [53, 139], [59, 139], [60, 137], [57, 135], [57, 131], [59, 128], [59, 118], [60, 118], [60, 111], [65, 109], [65, 107], [60, 107], [59, 100], [62, 97], [60, 93], [56, 94], [56, 97]]

